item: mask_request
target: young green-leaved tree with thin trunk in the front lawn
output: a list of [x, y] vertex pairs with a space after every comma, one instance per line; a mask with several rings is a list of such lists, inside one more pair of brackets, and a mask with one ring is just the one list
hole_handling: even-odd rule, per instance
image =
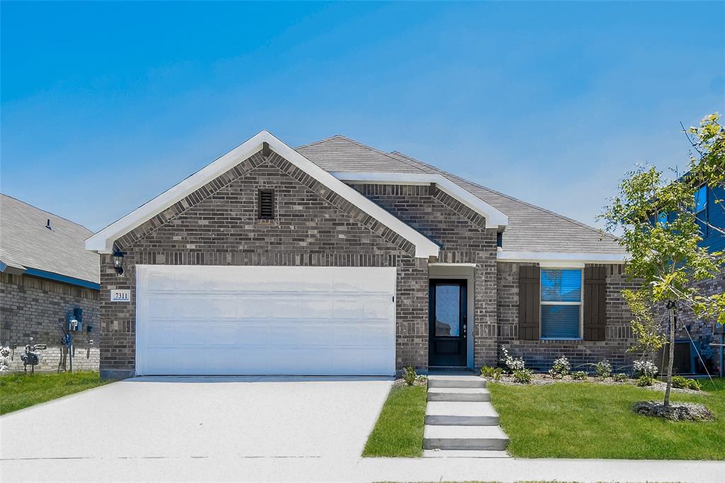
[[[695, 152], [684, 176], [668, 179], [654, 167], [639, 167], [619, 184], [618, 194], [600, 218], [608, 231], [621, 231], [620, 244], [629, 253], [626, 274], [641, 282], [637, 291], [625, 294], [635, 315], [635, 326], [644, 324], [644, 345], [655, 347], [658, 339], [647, 331], [647, 311], [666, 305], [669, 315], [669, 365], [664, 405], [669, 407], [674, 363], [675, 324], [678, 308], [690, 307], [697, 317], [725, 322], [725, 294], [707, 294], [694, 282], [713, 278], [724, 265], [723, 252], [708, 252], [700, 225], [708, 220], [695, 213], [697, 189], [707, 184], [721, 188], [725, 178], [725, 130], [719, 115], [703, 118], [699, 128], [686, 133]], [[717, 200], [720, 209], [722, 200]], [[698, 222], [700, 225], [698, 225]], [[723, 227], [713, 226], [721, 233]], [[651, 329], [651, 327], [650, 327]], [[642, 340], [640, 339], [640, 344]]]

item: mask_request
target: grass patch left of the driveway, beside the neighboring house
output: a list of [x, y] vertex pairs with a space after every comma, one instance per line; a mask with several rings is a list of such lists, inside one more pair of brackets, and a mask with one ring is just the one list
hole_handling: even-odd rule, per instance
[[28, 408], [74, 392], [107, 384], [97, 372], [8, 374], [0, 376], [0, 414]]

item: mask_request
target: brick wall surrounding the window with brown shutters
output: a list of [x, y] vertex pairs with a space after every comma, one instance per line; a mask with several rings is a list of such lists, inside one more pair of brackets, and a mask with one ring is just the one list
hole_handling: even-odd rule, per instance
[[[593, 341], [555, 341], [518, 339], [518, 268], [521, 263], [498, 263], [498, 351], [505, 345], [510, 355], [523, 357], [526, 365], [539, 371], [547, 371], [555, 358], [565, 355], [572, 366], [597, 363], [608, 359], [615, 371], [627, 371], [635, 355], [626, 352], [634, 342], [629, 321], [631, 314], [626, 307], [621, 290], [635, 288], [637, 284], [627, 280], [622, 265], [605, 265], [607, 275], [607, 328], [606, 339]], [[531, 265], [531, 264], [528, 264]], [[500, 353], [497, 355], [501, 357]], [[587, 367], [573, 370], [587, 370]]]

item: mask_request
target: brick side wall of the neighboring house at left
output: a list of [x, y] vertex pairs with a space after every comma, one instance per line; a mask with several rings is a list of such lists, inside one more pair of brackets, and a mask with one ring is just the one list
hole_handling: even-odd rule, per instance
[[[61, 324], [68, 310], [83, 309], [83, 323], [99, 330], [98, 292], [78, 286], [62, 284], [32, 276], [0, 274], [0, 315], [2, 326], [10, 326], [10, 340], [3, 344], [17, 344], [10, 360], [12, 371], [22, 371], [20, 355], [30, 337], [36, 344], [47, 344], [40, 351], [40, 364], [36, 370], [66, 371], [70, 368], [68, 350], [60, 344], [63, 337]], [[73, 369], [98, 371], [99, 337], [85, 331], [74, 333]], [[93, 339], [94, 344], [88, 340]]]

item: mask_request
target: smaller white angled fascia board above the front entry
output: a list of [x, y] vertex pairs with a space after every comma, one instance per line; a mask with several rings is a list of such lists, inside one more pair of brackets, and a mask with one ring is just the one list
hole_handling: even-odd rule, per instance
[[454, 197], [463, 205], [471, 208], [471, 210], [479, 213], [486, 218], [486, 226], [497, 228], [502, 231], [508, 226], [508, 216], [492, 207], [484, 200], [476, 197], [470, 191], [458, 186], [450, 179], [439, 174], [430, 173], [368, 173], [353, 171], [333, 171], [332, 176], [341, 181], [348, 183], [373, 183], [373, 184], [404, 184], [404, 185], [420, 185], [428, 183], [436, 183], [438, 189], [444, 193]]

